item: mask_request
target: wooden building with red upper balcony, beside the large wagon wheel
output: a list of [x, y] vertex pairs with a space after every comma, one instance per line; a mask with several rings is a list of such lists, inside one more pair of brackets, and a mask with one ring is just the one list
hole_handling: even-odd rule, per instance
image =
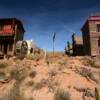
[[23, 24], [16, 18], [0, 19], [0, 57], [15, 54], [15, 45], [24, 36]]

